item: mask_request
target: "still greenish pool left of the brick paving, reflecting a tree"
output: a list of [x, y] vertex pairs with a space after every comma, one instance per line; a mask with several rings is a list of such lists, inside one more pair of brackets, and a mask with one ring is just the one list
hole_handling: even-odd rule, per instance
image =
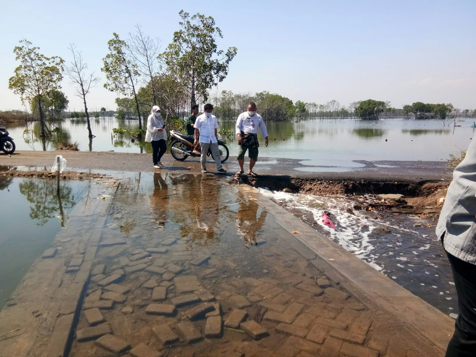
[[0, 310], [33, 261], [53, 242], [88, 181], [0, 176]]

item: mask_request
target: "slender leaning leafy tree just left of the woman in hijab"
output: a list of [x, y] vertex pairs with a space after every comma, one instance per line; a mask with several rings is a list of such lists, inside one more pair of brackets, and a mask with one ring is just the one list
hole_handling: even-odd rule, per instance
[[136, 113], [139, 118], [139, 129], [142, 129], [139, 101], [137, 99], [137, 78], [139, 77], [138, 65], [131, 55], [129, 45], [121, 40], [117, 33], [108, 41], [109, 53], [104, 57], [104, 67], [101, 70], [106, 74], [107, 83], [104, 87], [111, 92], [119, 91], [125, 96], [133, 96], [136, 103]]

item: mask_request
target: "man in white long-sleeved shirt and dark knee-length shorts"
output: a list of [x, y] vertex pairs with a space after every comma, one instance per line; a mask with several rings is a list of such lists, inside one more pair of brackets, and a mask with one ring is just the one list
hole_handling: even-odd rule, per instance
[[258, 129], [266, 139], [265, 146], [268, 146], [268, 130], [263, 118], [256, 113], [256, 104], [250, 102], [248, 104], [248, 111], [238, 115], [237, 119], [237, 136], [238, 136], [238, 163], [240, 170], [236, 173], [236, 176], [240, 176], [245, 172], [243, 165], [245, 163], [245, 153], [248, 150], [249, 157], [249, 170], [248, 175], [256, 177], [253, 172], [253, 167], [258, 160]]

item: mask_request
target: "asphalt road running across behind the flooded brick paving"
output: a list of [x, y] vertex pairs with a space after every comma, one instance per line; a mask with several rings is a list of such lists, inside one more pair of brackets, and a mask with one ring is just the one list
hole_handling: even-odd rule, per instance
[[[16, 151], [11, 156], [2, 153], [0, 154], [0, 170], [20, 166], [50, 168], [56, 155], [63, 155], [68, 160], [69, 168], [150, 172], [158, 170], [153, 168], [151, 154], [95, 151]], [[166, 154], [162, 162], [166, 167], [160, 170], [164, 171], [183, 174], [197, 174], [201, 171], [199, 158], [177, 161], [171, 155]], [[451, 171], [446, 168], [446, 163], [441, 161], [355, 162], [365, 166], [351, 169], [317, 167], [305, 165], [306, 161], [296, 159], [260, 158], [253, 171], [262, 176], [288, 176], [317, 180], [422, 181], [451, 179]], [[237, 158], [230, 157], [223, 167], [228, 170], [227, 175], [233, 175], [239, 170]], [[247, 167], [248, 158], [245, 161], [245, 172], [247, 172]], [[209, 172], [216, 171], [212, 160], [208, 161], [207, 168]]]

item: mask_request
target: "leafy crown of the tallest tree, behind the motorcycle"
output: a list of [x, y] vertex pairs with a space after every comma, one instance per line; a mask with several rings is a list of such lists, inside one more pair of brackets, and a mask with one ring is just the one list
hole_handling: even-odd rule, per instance
[[172, 43], [159, 59], [174, 68], [172, 71], [186, 83], [190, 105], [195, 105], [198, 98], [207, 100], [208, 89], [226, 78], [228, 64], [237, 54], [237, 48], [218, 50], [216, 39], [223, 35], [211, 16], [199, 13], [190, 16], [184, 10], [179, 15], [181, 29], [174, 32]]

